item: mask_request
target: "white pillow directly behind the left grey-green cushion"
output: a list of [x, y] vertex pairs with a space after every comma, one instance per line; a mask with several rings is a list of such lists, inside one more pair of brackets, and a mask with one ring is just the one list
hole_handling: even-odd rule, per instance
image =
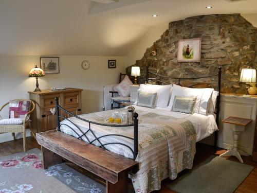
[[167, 108], [172, 85], [140, 84], [140, 92], [157, 93], [156, 107]]

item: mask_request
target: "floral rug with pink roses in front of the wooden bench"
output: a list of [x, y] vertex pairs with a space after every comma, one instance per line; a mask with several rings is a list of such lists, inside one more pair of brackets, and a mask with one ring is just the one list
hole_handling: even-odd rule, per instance
[[0, 158], [0, 193], [102, 193], [105, 187], [66, 164], [43, 169], [39, 149]]

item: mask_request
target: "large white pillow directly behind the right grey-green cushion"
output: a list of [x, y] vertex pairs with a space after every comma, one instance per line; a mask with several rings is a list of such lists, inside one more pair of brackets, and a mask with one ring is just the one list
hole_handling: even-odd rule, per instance
[[208, 101], [214, 89], [192, 89], [173, 84], [169, 109], [172, 108], [175, 96], [179, 97], [196, 97], [194, 112], [207, 115]]

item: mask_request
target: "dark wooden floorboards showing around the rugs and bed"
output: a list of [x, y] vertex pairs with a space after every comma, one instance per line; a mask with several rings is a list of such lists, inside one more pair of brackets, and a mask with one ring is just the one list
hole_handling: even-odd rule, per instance
[[[36, 143], [33, 137], [26, 138], [27, 150], [33, 148], [39, 148], [40, 146]], [[22, 139], [17, 139], [15, 142], [10, 141], [6, 143], [0, 143], [0, 157], [11, 155], [13, 153], [18, 153], [23, 151]], [[204, 144], [196, 145], [196, 155], [194, 158], [194, 166], [206, 160], [210, 155], [220, 155], [224, 153], [226, 150], [218, 149], [214, 150], [213, 147], [207, 146]], [[249, 174], [249, 176], [245, 179], [245, 181], [235, 190], [235, 193], [257, 193], [257, 163], [251, 160], [250, 156], [242, 157], [245, 164], [254, 166], [254, 169]], [[236, 161], [238, 160], [234, 157], [228, 157], [227, 159]], [[82, 170], [80, 170], [82, 171]], [[179, 175], [182, 175], [183, 172], [180, 172]], [[174, 191], [166, 188], [166, 185], [169, 184], [171, 180], [167, 179], [162, 182], [162, 188], [158, 191], [153, 191], [154, 193], [174, 193]]]

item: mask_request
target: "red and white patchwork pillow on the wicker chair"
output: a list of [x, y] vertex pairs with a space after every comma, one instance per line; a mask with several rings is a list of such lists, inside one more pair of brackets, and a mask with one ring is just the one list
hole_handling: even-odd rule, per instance
[[9, 118], [24, 118], [29, 112], [30, 101], [10, 101], [9, 102]]

